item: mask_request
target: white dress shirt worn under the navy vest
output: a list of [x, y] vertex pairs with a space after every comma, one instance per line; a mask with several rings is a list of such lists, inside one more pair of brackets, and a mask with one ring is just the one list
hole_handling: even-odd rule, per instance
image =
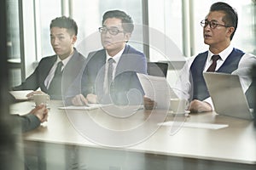
[[[216, 71], [221, 65], [224, 64], [225, 59], [227, 59], [227, 57], [230, 55], [232, 50], [233, 50], [233, 47], [232, 45], [230, 45], [228, 48], [225, 48], [221, 53], [218, 54], [221, 59], [218, 59], [217, 61]], [[205, 64], [204, 71], [207, 71], [207, 68], [212, 64], [212, 59], [211, 59], [212, 55], [213, 55], [212, 52], [208, 50], [207, 62]], [[196, 56], [187, 59], [185, 65], [183, 66], [183, 69], [178, 74], [177, 82], [173, 88], [177, 96], [181, 99], [191, 99], [193, 97], [192, 84], [189, 80], [189, 76], [190, 76], [189, 71], [190, 71], [190, 66], [192, 65], [195, 57]], [[241, 87], [244, 93], [246, 92], [247, 88], [250, 86], [252, 82], [252, 79], [251, 77], [249, 77], [249, 74], [253, 64], [256, 64], [256, 57], [253, 54], [246, 53], [241, 57], [241, 60], [238, 64], [237, 69], [231, 73], [231, 74], [236, 74], [240, 77]], [[204, 101], [212, 105], [211, 98], [205, 99]], [[214, 110], [213, 105], [212, 105], [212, 109]]]

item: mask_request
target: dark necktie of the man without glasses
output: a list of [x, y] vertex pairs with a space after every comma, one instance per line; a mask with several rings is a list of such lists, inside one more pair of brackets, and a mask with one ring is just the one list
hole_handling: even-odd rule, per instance
[[61, 67], [63, 63], [60, 61], [55, 70], [55, 76], [49, 83], [48, 94], [51, 99], [61, 99], [61, 80], [62, 80], [62, 72]]

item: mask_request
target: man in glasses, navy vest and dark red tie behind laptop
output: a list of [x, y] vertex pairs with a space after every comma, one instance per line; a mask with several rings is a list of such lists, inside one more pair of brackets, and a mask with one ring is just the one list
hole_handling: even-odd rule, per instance
[[[190, 112], [214, 110], [203, 78], [204, 71], [237, 74], [241, 77], [242, 88], [245, 91], [249, 88], [252, 82], [249, 71], [256, 58], [230, 44], [237, 21], [236, 10], [227, 3], [213, 3], [205, 20], [201, 21], [204, 42], [209, 45], [209, 49], [186, 62], [174, 89], [179, 98], [189, 99]], [[250, 93], [246, 95], [247, 99], [250, 98]], [[145, 98], [144, 105], [146, 109], [151, 109], [154, 101]]]

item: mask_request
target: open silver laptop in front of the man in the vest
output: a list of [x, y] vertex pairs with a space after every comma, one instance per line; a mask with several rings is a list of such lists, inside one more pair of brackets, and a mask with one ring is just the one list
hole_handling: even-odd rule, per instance
[[253, 119], [253, 110], [248, 106], [237, 75], [204, 72], [203, 77], [207, 83], [215, 111], [219, 115]]

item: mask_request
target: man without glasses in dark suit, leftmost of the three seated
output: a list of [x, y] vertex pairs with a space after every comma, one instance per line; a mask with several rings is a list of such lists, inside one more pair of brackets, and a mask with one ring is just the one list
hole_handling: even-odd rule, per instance
[[[55, 55], [44, 57], [31, 76], [13, 90], [37, 90], [49, 94], [51, 99], [62, 99], [64, 92], [73, 87], [75, 77], [79, 75], [85, 58], [74, 48], [77, 41], [78, 26], [68, 17], [55, 18], [50, 23], [50, 42]], [[62, 93], [63, 92], [63, 93]], [[41, 93], [40, 91], [28, 94]]]

